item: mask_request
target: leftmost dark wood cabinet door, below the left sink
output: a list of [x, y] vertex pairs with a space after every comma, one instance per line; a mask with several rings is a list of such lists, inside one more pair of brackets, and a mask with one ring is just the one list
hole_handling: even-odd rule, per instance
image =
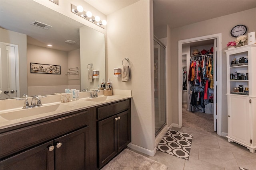
[[53, 141], [26, 150], [0, 162], [1, 170], [54, 170]]

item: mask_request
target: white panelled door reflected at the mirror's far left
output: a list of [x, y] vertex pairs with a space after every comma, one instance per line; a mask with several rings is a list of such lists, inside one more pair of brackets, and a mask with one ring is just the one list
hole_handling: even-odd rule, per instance
[[0, 43], [0, 99], [16, 98], [16, 45]]

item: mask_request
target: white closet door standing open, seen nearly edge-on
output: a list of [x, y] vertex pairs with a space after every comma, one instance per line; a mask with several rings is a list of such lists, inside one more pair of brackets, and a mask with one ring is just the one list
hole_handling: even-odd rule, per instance
[[217, 131], [217, 52], [217, 39], [214, 39], [214, 131]]

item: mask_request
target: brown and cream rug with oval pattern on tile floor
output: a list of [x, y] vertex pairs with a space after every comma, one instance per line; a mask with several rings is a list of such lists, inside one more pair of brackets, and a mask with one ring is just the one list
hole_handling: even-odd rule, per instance
[[169, 129], [156, 150], [188, 160], [193, 135]]

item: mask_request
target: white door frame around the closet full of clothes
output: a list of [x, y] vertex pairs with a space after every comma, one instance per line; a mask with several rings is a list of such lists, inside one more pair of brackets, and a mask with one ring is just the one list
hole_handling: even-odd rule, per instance
[[[182, 127], [182, 44], [217, 39], [217, 134], [222, 134], [222, 34], [206, 35], [178, 41], [178, 127]], [[219, 84], [219, 86], [218, 86]]]

